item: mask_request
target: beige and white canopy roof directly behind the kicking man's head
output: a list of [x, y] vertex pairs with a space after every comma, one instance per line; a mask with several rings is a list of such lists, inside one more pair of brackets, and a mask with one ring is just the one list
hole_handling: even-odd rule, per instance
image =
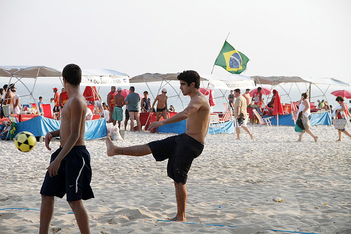
[[[142, 75], [132, 77], [130, 83], [141, 82], [156, 82], [156, 81], [176, 81], [180, 73], [145, 73]], [[255, 87], [255, 82], [251, 77], [228, 74], [228, 75], [215, 75], [215, 74], [200, 74], [201, 81], [208, 81], [214, 89], [249, 89]]]

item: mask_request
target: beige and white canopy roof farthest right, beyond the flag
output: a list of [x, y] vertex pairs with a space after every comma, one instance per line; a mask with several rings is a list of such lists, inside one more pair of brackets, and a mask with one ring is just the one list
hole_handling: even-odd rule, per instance
[[311, 83], [348, 86], [347, 83], [336, 80], [334, 78], [301, 78], [298, 76], [252, 76], [252, 78], [255, 79], [257, 84], [262, 85], [277, 85], [280, 83]]

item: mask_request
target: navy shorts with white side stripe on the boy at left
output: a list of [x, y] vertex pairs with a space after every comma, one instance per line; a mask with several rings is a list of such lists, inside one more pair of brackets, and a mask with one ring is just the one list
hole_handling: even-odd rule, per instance
[[[50, 163], [61, 150], [62, 147], [51, 155]], [[57, 175], [50, 177], [46, 172], [40, 194], [62, 198], [67, 193], [67, 201], [87, 200], [94, 198], [90, 181], [90, 154], [84, 145], [73, 146], [62, 159]]]

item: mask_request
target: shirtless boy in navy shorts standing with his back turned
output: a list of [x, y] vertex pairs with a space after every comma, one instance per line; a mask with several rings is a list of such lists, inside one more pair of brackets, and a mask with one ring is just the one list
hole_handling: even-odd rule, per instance
[[80, 232], [90, 233], [88, 213], [82, 203], [82, 199], [94, 198], [90, 187], [90, 155], [84, 145], [87, 104], [79, 90], [82, 71], [77, 65], [69, 64], [63, 69], [62, 77], [69, 99], [61, 113], [60, 129], [48, 132], [45, 136], [45, 145], [49, 150], [53, 137], [60, 137], [61, 146], [51, 155], [40, 190], [42, 205], [39, 233], [48, 233], [54, 213], [54, 196], [62, 198], [66, 193]]

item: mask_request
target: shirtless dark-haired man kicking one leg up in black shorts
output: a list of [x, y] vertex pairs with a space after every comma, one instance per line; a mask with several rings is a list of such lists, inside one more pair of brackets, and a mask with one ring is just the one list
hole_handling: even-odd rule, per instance
[[130, 147], [113, 145], [108, 134], [106, 146], [108, 156], [143, 156], [152, 153], [156, 161], [163, 161], [168, 158], [167, 175], [174, 180], [178, 208], [177, 216], [171, 220], [186, 221], [188, 171], [194, 158], [198, 157], [204, 149], [205, 136], [210, 121], [210, 104], [199, 90], [200, 76], [197, 72], [184, 71], [178, 76], [178, 80], [183, 95], [190, 95], [191, 100], [188, 107], [169, 119], [151, 123], [149, 129], [187, 119], [187, 130], [184, 134]]

